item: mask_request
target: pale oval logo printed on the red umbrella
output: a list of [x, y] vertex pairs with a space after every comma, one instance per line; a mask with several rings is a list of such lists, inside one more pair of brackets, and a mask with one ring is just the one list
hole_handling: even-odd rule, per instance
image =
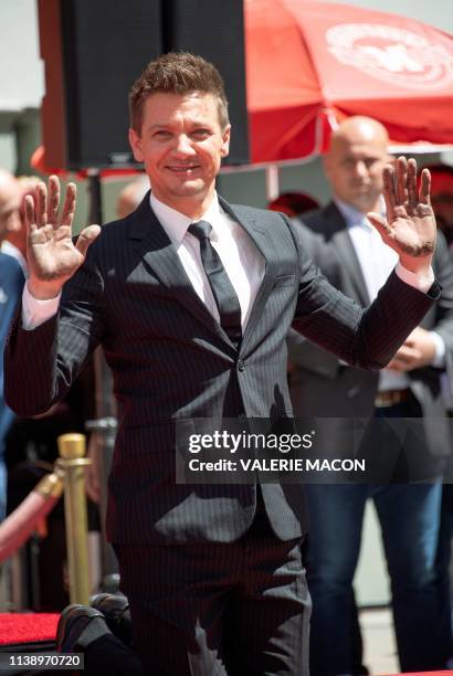
[[453, 51], [412, 31], [384, 24], [343, 23], [326, 31], [340, 63], [409, 89], [440, 89], [453, 82]]

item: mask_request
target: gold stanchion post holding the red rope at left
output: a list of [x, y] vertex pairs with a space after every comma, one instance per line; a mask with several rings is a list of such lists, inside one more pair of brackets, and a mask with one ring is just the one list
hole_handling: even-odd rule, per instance
[[57, 465], [64, 472], [64, 511], [66, 525], [67, 573], [71, 603], [89, 601], [87, 511], [85, 495], [85, 436], [63, 434], [57, 439]]

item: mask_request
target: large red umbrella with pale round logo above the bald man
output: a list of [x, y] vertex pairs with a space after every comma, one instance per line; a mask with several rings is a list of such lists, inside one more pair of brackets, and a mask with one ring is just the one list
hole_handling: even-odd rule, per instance
[[399, 144], [453, 142], [453, 36], [405, 17], [244, 0], [253, 162], [307, 158], [368, 115]]

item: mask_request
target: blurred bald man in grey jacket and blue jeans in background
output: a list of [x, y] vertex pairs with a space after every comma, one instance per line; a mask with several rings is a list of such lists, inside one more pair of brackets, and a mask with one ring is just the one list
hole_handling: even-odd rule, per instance
[[[312, 230], [308, 246], [315, 262], [335, 286], [361, 305], [377, 295], [397, 262], [380, 246], [366, 218], [370, 211], [383, 215], [381, 175], [390, 159], [387, 148], [381, 124], [366, 117], [345, 120], [334, 133], [324, 162], [333, 200], [303, 216]], [[310, 245], [313, 233], [323, 237], [324, 246]], [[303, 225], [301, 234], [308, 237]], [[334, 443], [349, 418], [423, 416], [430, 451], [449, 450], [440, 376], [453, 353], [453, 279], [445, 241], [439, 240], [434, 270], [443, 285], [442, 296], [389, 368], [367, 373], [338, 362], [303, 338], [289, 337], [295, 415], [338, 419]], [[402, 448], [390, 436], [377, 451], [378, 455], [391, 451], [396, 457], [407, 452], [410, 458], [414, 448]], [[382, 531], [401, 668], [442, 668], [447, 661], [447, 600], [439, 600], [434, 569], [441, 483], [392, 480], [398, 475], [392, 477], [390, 472], [386, 485], [306, 486], [312, 534], [307, 559], [313, 596], [310, 666], [316, 676], [360, 673], [352, 579], [368, 498], [375, 501]]]

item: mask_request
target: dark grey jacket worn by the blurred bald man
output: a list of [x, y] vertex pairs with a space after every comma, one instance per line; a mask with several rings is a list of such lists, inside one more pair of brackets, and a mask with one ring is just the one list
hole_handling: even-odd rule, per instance
[[[347, 224], [335, 203], [304, 214], [298, 222], [298, 236], [314, 262], [334, 286], [368, 305], [361, 267]], [[436, 279], [442, 286], [439, 300], [430, 308], [420, 326], [435, 329], [446, 348], [446, 368], [452, 374], [453, 359], [453, 270], [442, 234], [438, 236], [433, 261]], [[404, 308], [402, 308], [404, 313]], [[397, 320], [396, 316], [391, 321]], [[373, 415], [379, 373], [341, 366], [340, 361], [307, 341], [295, 331], [288, 337], [292, 372], [291, 397], [296, 416], [369, 418]], [[436, 455], [450, 453], [449, 421], [441, 397], [440, 376], [443, 369], [424, 367], [408, 372], [410, 387], [419, 400], [430, 450]], [[340, 423], [339, 423], [340, 424]]]

